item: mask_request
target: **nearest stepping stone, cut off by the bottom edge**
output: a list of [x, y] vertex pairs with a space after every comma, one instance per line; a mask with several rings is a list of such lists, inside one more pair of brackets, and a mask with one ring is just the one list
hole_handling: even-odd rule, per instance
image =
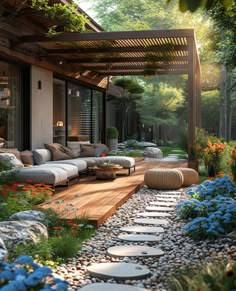
[[80, 291], [148, 291], [148, 289], [124, 284], [94, 283], [81, 288]]

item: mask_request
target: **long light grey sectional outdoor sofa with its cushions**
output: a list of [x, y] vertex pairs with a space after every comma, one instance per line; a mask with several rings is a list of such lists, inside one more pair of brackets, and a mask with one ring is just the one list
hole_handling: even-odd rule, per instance
[[21, 153], [17, 149], [0, 149], [0, 158], [6, 155], [11, 157], [12, 163], [19, 168], [16, 176], [18, 182], [32, 181], [53, 187], [69, 184], [81, 173], [88, 173], [89, 168], [108, 162], [127, 169], [128, 175], [131, 170], [135, 171], [134, 158], [109, 156], [107, 153], [108, 148], [104, 144], [70, 142], [68, 147], [56, 143], [45, 144], [44, 149]]

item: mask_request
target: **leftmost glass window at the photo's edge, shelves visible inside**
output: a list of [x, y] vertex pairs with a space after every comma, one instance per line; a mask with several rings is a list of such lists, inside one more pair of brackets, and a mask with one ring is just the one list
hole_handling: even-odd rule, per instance
[[0, 146], [22, 147], [21, 70], [0, 61]]

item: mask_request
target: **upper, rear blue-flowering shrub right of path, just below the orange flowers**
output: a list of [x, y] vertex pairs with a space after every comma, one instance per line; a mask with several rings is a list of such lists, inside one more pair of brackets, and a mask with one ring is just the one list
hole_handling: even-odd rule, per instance
[[187, 194], [198, 200], [209, 200], [218, 195], [235, 197], [236, 187], [228, 176], [223, 176], [213, 181], [206, 180], [197, 187], [190, 188]]

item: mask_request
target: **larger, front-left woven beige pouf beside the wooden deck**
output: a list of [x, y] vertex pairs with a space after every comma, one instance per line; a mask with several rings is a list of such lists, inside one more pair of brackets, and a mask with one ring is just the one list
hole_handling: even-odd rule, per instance
[[184, 177], [176, 169], [151, 169], [144, 175], [144, 183], [152, 189], [176, 190], [179, 189], [184, 181]]

